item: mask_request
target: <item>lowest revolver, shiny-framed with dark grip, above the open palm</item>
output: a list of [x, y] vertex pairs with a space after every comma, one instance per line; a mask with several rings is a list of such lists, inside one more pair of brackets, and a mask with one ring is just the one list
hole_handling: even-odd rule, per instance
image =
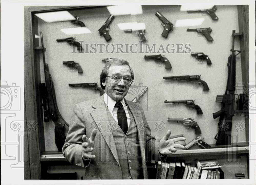
[[194, 128], [196, 135], [201, 135], [201, 129], [198, 126], [197, 122], [194, 121], [194, 119], [191, 118], [167, 118], [168, 122], [174, 122], [174, 123], [183, 123], [184, 126], [186, 126], [188, 129]]

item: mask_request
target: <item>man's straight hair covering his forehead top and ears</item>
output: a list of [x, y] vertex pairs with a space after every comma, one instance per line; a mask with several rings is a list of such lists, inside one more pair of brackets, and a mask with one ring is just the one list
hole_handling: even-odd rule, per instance
[[109, 72], [109, 68], [110, 66], [115, 66], [115, 65], [128, 65], [131, 71], [131, 75], [132, 75], [132, 80], [134, 79], [134, 73], [133, 70], [131, 68], [131, 66], [129, 65], [129, 62], [127, 62], [126, 60], [122, 59], [122, 58], [113, 58], [112, 60], [110, 60], [109, 62], [106, 63], [106, 65], [103, 67], [101, 74], [100, 74], [100, 86], [102, 89], [105, 89], [105, 86], [102, 85], [102, 82], [105, 81], [105, 78], [108, 75]]

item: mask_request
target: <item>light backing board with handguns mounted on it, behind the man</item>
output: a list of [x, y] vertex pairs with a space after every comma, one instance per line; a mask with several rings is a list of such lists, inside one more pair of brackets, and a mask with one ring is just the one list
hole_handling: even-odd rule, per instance
[[[180, 6], [140, 6], [133, 8], [140, 11], [132, 15], [128, 7], [125, 7], [127, 14], [122, 15], [114, 8], [70, 9], [65, 11], [70, 16], [66, 21], [47, 22], [40, 13], [34, 16], [35, 46], [41, 46], [42, 32], [47, 48], [45, 61], [63, 119], [69, 123], [77, 103], [102, 95], [99, 80], [102, 68], [113, 58], [124, 58], [134, 71], [134, 82], [126, 99], [140, 103], [157, 139], [170, 129], [172, 135], [184, 134], [186, 144], [197, 138], [198, 133], [205, 143], [215, 144], [219, 120], [213, 119], [212, 113], [221, 109], [220, 103], [215, 102], [216, 95], [226, 90], [231, 32], [239, 32], [237, 6], [207, 8], [206, 16], [199, 10], [180, 11]], [[210, 30], [206, 33], [207, 29], [196, 30], [199, 28]], [[234, 48], [239, 50], [239, 42], [235, 42]], [[45, 83], [43, 60], [39, 62], [41, 83]], [[235, 89], [241, 83], [241, 61], [237, 56]], [[165, 103], [165, 100], [181, 103]], [[168, 122], [167, 118], [193, 118], [200, 132], [196, 134], [195, 129]], [[245, 141], [244, 126], [244, 118], [234, 114], [231, 135], [237, 137], [233, 142]], [[52, 120], [44, 123], [46, 151], [57, 150], [54, 128]]]

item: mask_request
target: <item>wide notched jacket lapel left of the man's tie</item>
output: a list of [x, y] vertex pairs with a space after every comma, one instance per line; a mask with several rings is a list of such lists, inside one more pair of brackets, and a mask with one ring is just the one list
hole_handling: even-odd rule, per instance
[[99, 131], [101, 132], [104, 140], [108, 144], [108, 147], [110, 148], [113, 156], [119, 163], [115, 141], [110, 127], [110, 120], [108, 118], [106, 105], [104, 103], [104, 95], [98, 98], [92, 106], [95, 108], [95, 110], [91, 112], [91, 116], [97, 124]]

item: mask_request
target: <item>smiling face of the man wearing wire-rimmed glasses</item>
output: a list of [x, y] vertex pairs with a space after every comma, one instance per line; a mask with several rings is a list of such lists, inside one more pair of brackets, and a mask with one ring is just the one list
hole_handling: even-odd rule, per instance
[[[128, 65], [112, 65], [109, 68], [108, 76], [121, 75], [121, 76], [131, 76], [131, 70]], [[120, 82], [113, 82], [111, 77], [106, 77], [105, 82], [102, 82], [105, 86], [106, 94], [115, 101], [121, 101], [127, 94], [130, 85], [124, 82], [122, 78]]]

